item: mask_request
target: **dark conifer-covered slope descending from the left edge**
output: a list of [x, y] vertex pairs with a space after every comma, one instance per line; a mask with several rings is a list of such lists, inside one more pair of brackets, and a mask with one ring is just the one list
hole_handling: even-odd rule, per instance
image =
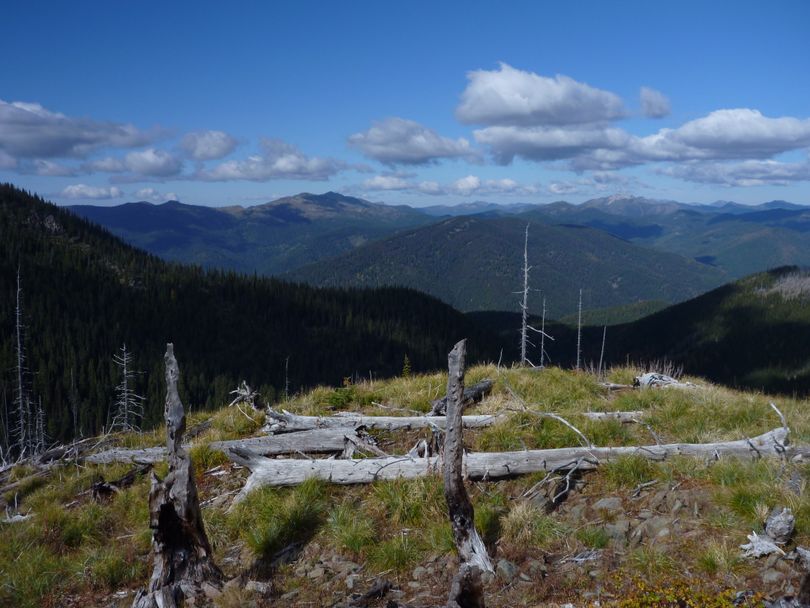
[[[494, 333], [407, 289], [339, 290], [167, 263], [10, 184], [0, 185], [0, 442], [14, 423], [15, 302], [19, 265], [30, 394], [52, 440], [97, 433], [120, 382], [126, 343], [146, 397], [143, 426], [161, 417], [163, 359], [174, 342], [183, 399], [222, 405], [245, 379], [272, 401], [353, 374], [444, 367], [469, 338], [471, 359], [498, 358]], [[71, 401], [77, 404], [74, 428]]]

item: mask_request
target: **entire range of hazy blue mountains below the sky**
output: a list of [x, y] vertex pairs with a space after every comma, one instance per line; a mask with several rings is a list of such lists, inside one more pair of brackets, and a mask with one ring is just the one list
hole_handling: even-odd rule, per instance
[[173, 201], [71, 209], [164, 259], [314, 285], [407, 285], [461, 310], [516, 310], [527, 223], [532, 284], [553, 315], [572, 312], [580, 287], [587, 308], [632, 304], [640, 314], [650, 310], [644, 302], [660, 306], [728, 278], [810, 265], [810, 207], [786, 201], [614, 195], [579, 205], [413, 208], [327, 192], [246, 208]]

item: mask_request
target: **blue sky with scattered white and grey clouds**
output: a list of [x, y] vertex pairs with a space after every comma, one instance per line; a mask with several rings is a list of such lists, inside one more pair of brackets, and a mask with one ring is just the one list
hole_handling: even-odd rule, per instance
[[4, 24], [0, 179], [59, 203], [810, 203], [804, 1], [26, 2]]

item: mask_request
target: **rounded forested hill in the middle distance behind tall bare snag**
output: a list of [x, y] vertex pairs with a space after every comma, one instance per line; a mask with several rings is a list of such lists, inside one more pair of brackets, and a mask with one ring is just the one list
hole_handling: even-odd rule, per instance
[[[402, 285], [465, 311], [517, 310], [526, 222], [459, 217], [369, 243], [289, 273], [312, 285]], [[716, 287], [723, 273], [679, 256], [644, 249], [604, 232], [535, 223], [529, 229], [531, 287], [549, 315], [638, 302], [677, 302]], [[531, 298], [541, 311], [541, 296]]]

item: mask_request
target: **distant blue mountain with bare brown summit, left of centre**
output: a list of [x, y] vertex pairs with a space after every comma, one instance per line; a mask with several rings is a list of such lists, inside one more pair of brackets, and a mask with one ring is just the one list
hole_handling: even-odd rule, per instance
[[70, 209], [166, 260], [275, 275], [398, 230], [434, 221], [411, 207], [335, 192], [299, 194], [254, 207], [169, 201]]

